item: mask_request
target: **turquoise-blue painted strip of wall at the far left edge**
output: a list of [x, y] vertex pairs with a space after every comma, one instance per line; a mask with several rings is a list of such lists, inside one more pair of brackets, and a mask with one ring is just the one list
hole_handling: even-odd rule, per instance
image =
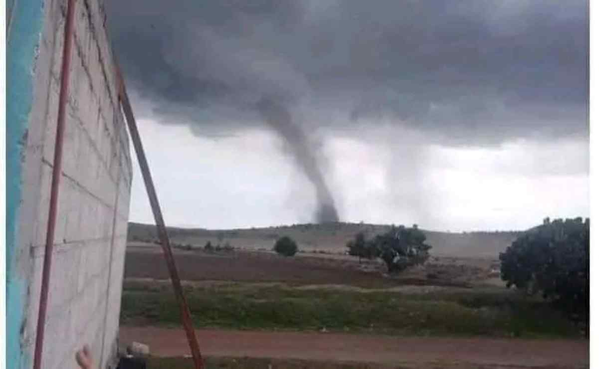
[[16, 255], [17, 247], [20, 247], [22, 165], [29, 114], [34, 103], [34, 65], [43, 25], [44, 1], [10, 1], [9, 4], [12, 14], [6, 60], [6, 355], [7, 368], [25, 369], [31, 367], [31, 358], [24, 355], [20, 343], [27, 282], [19, 275]]

